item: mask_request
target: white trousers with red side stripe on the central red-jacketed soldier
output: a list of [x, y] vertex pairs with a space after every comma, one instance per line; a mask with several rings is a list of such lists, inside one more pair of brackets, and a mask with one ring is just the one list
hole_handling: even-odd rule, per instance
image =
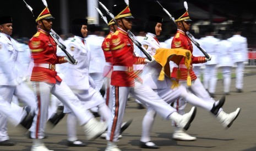
[[108, 124], [106, 137], [106, 140], [108, 141], [118, 141], [129, 93], [137, 98], [141, 103], [148, 104], [164, 119], [168, 119], [170, 114], [177, 112], [176, 109], [172, 108], [164, 100], [162, 100], [148, 85], [141, 84], [139, 82], [135, 82], [134, 87], [112, 85], [112, 91], [112, 116], [110, 123]]

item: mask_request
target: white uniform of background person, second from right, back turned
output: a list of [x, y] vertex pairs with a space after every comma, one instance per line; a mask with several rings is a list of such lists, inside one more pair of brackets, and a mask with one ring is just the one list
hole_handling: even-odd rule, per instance
[[224, 93], [228, 94], [231, 85], [231, 69], [234, 65], [233, 47], [228, 40], [221, 40], [218, 49], [220, 50], [219, 66], [222, 68], [223, 89]]

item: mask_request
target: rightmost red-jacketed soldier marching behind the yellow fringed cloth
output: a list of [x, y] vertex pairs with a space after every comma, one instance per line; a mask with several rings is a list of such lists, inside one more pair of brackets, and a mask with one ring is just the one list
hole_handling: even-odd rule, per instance
[[[191, 21], [188, 15], [188, 11], [184, 9], [178, 9], [174, 11], [173, 14], [177, 26], [177, 33], [172, 40], [171, 48], [182, 48], [190, 50], [192, 53], [192, 62], [190, 68], [187, 69], [184, 65], [184, 61], [182, 60], [179, 66], [175, 66], [172, 70], [171, 77], [177, 80], [180, 84], [187, 86], [187, 88], [193, 92], [194, 95], [198, 96], [202, 100], [207, 102], [215, 102], [215, 100], [210, 97], [209, 93], [205, 90], [203, 84], [200, 82], [200, 79], [197, 78], [193, 71], [193, 63], [204, 63], [211, 60], [211, 57], [207, 59], [204, 56], [193, 56], [193, 45], [190, 41], [189, 37], [187, 36], [187, 31], [189, 31], [191, 26]], [[189, 85], [189, 86], [188, 86]], [[186, 101], [183, 98], [179, 98], [179, 100], [175, 103], [175, 108], [178, 109], [180, 114], [184, 114], [184, 108], [186, 106]], [[222, 110], [222, 108], [220, 109]], [[228, 121], [231, 121], [230, 124], [226, 124], [225, 122], [222, 123], [224, 127], [230, 127], [233, 121], [238, 117], [241, 108], [237, 108], [235, 112], [230, 114], [225, 113], [224, 111], [219, 112], [217, 114], [218, 119], [222, 119], [225, 117], [229, 117]], [[177, 137], [176, 137], [177, 136]], [[182, 141], [191, 141], [195, 140], [194, 137], [188, 135], [182, 129], [176, 129], [173, 133], [173, 138], [176, 140]]]

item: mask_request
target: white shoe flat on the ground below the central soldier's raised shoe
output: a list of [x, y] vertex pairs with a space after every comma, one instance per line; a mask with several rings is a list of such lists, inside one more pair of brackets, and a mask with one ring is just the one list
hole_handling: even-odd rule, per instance
[[197, 137], [190, 136], [186, 132], [184, 132], [182, 129], [179, 129], [179, 128], [177, 128], [172, 133], [172, 138], [174, 140], [179, 140], [179, 141], [195, 141], [195, 140], [197, 140]]

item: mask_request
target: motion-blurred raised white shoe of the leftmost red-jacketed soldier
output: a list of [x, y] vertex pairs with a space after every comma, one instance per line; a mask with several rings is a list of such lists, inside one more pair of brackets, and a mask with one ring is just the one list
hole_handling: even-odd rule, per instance
[[95, 118], [92, 118], [84, 125], [84, 132], [86, 140], [95, 140], [97, 137], [100, 137], [107, 129], [106, 123], [101, 123]]

